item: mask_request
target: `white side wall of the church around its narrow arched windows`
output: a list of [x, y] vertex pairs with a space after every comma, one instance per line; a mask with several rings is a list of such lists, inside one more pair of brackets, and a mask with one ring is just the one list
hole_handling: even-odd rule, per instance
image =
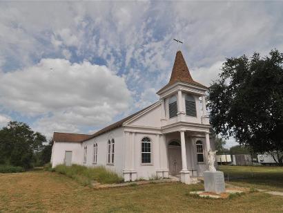
[[[115, 140], [115, 156], [114, 156], [114, 164], [110, 165], [107, 163], [108, 156], [108, 140]], [[93, 163], [93, 145], [97, 142], [97, 163]], [[122, 175], [122, 170], [124, 167], [124, 128], [120, 127], [114, 129], [113, 131], [103, 133], [96, 138], [92, 138], [83, 142], [81, 145], [81, 162], [84, 160], [84, 147], [87, 147], [87, 159], [86, 163], [82, 163], [87, 167], [97, 167], [104, 166], [107, 169], [116, 172], [119, 175]]]

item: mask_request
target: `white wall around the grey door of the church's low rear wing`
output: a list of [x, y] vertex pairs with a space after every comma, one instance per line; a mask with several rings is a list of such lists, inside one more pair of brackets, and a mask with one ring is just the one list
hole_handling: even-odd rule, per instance
[[55, 142], [52, 146], [52, 167], [64, 164], [65, 151], [72, 151], [72, 164], [82, 163], [82, 151], [80, 142]]

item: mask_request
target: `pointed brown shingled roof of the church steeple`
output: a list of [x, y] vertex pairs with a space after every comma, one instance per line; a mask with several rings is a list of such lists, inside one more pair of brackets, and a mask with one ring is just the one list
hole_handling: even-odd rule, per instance
[[[172, 73], [170, 80], [166, 86], [164, 86], [162, 89], [166, 88], [167, 86], [170, 86], [174, 84], [175, 82], [185, 82], [188, 84], [193, 84], [195, 86], [200, 86], [205, 89], [207, 89], [206, 86], [199, 84], [199, 82], [195, 82], [193, 80], [193, 77], [191, 76], [190, 71], [188, 70], [188, 66], [186, 66], [185, 59], [182, 55], [181, 50], [178, 50], [175, 57], [175, 62], [173, 65]], [[162, 90], [160, 89], [160, 91]]]

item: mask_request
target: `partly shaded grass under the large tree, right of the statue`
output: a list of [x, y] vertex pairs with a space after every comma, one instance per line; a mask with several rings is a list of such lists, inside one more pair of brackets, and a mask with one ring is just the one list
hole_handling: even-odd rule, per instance
[[229, 183], [242, 187], [254, 187], [283, 192], [283, 167], [220, 166]]

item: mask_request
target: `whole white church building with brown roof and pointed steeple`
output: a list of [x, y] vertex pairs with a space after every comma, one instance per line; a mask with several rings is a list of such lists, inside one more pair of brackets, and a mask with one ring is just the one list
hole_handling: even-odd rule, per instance
[[205, 93], [191, 77], [179, 50], [170, 81], [157, 91], [159, 101], [92, 135], [53, 136], [51, 163], [104, 166], [124, 177], [180, 176], [191, 183], [208, 169], [208, 150], [215, 149]]

